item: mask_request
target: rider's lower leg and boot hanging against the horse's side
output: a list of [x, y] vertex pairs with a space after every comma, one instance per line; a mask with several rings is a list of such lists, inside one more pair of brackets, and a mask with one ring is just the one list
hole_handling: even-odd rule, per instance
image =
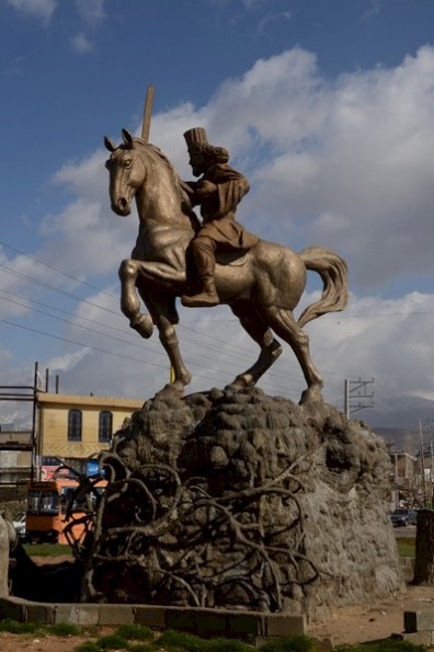
[[218, 306], [219, 296], [214, 283], [214, 270], [216, 266], [215, 242], [208, 237], [197, 237], [193, 240], [192, 253], [196, 263], [201, 290], [193, 296], [182, 296], [181, 302], [187, 308], [206, 308]]

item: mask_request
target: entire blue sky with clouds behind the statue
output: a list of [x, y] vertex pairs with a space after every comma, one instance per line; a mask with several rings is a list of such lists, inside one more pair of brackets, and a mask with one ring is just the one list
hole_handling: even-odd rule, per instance
[[[138, 218], [111, 211], [104, 168], [104, 135], [139, 135], [152, 83], [150, 141], [183, 179], [202, 126], [250, 181], [250, 231], [346, 260], [347, 308], [306, 327], [324, 399], [343, 410], [346, 379], [354, 417], [432, 427], [433, 24], [432, 0], [0, 0], [0, 385], [31, 385], [35, 362], [64, 393], [168, 382], [158, 333], [119, 310]], [[320, 287], [309, 273], [296, 316]], [[256, 358], [227, 307], [180, 317], [187, 393]], [[287, 345], [259, 387], [298, 402]], [[23, 404], [1, 402], [5, 423], [28, 423]]]

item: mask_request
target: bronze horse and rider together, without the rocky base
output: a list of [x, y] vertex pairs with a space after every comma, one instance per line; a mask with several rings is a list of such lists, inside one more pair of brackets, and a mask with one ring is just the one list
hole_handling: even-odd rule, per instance
[[[172, 382], [162, 391], [182, 394], [191, 381], [174, 328], [181, 297], [191, 308], [227, 304], [259, 345], [256, 362], [228, 387], [258, 382], [282, 353], [276, 335], [289, 344], [301, 366], [307, 389], [300, 402], [322, 400], [322, 377], [302, 327], [345, 308], [345, 261], [330, 249], [309, 247], [295, 253], [247, 231], [236, 220], [236, 209], [249, 182], [228, 164], [227, 149], [208, 142], [202, 127], [184, 134], [193, 175], [198, 178], [189, 182], [158, 147], [127, 129], [122, 136], [117, 147], [105, 137], [111, 205], [114, 213], [127, 216], [135, 198], [139, 231], [132, 256], [119, 267], [121, 308], [142, 338], [150, 338], [157, 327], [172, 367]], [[321, 276], [323, 289], [296, 319], [293, 311], [305, 291], [308, 270]], [[140, 298], [148, 313], [141, 312]]]

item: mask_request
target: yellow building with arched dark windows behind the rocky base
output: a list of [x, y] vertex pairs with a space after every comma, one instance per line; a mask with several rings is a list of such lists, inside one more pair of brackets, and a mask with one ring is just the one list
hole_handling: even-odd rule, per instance
[[138, 399], [37, 392], [36, 457], [85, 459], [107, 449], [112, 435], [142, 404]]

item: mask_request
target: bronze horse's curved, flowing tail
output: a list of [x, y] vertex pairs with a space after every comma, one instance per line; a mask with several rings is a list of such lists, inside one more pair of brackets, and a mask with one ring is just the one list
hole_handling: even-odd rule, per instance
[[298, 254], [307, 270], [318, 272], [323, 282], [319, 301], [308, 306], [298, 319], [304, 327], [327, 312], [343, 310], [349, 301], [349, 268], [343, 259], [331, 249], [309, 247]]

